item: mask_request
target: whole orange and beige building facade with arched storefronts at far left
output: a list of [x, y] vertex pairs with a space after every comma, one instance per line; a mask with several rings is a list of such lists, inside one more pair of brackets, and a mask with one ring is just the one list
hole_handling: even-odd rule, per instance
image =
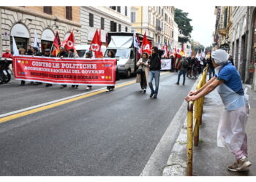
[[52, 46], [56, 31], [64, 41], [74, 30], [80, 44], [80, 7], [0, 7], [0, 12], [0, 53], [12, 50], [12, 36], [18, 48], [33, 46], [35, 30], [42, 52]]

